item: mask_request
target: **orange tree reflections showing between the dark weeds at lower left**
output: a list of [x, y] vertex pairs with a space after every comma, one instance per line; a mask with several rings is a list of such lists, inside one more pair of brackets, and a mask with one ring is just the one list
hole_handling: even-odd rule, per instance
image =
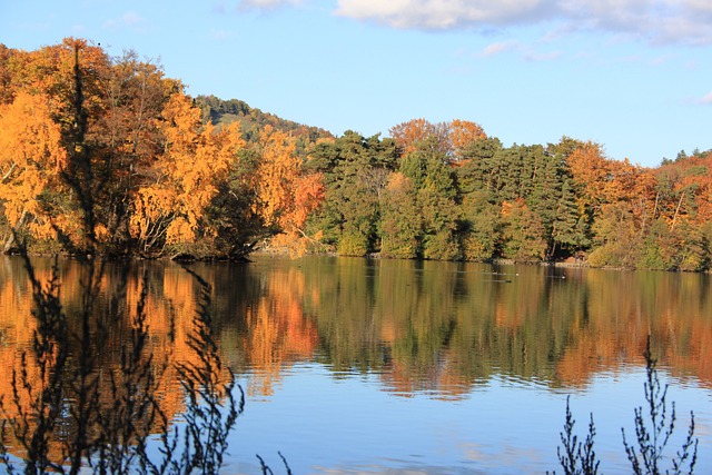
[[[3, 273], [0, 274], [0, 395], [3, 400], [3, 415], [12, 419], [22, 414], [32, 414], [31, 405], [40, 397], [40, 390], [47, 387], [49, 373], [42, 373], [32, 350], [37, 319], [32, 315], [33, 301], [31, 286], [19, 259], [3, 261]], [[139, 266], [141, 267], [141, 266]], [[120, 270], [120, 269], [119, 269]], [[180, 384], [178, 367], [181, 365], [199, 365], [200, 360], [189, 338], [194, 329], [196, 313], [199, 307], [200, 286], [185, 270], [177, 266], [168, 266], [159, 273], [162, 278], [149, 279], [149, 290], [146, 294], [145, 314], [147, 327], [148, 349], [141, 358], [145, 365], [150, 365], [149, 374], [155, 377], [150, 390], [155, 394], [160, 412], [171, 420], [181, 414], [186, 406], [186, 395]], [[48, 283], [51, 270], [47, 261], [40, 260], [34, 267], [34, 275], [41, 283]], [[120, 384], [122, 349], [130, 345], [130, 330], [137, 315], [144, 285], [140, 268], [132, 268], [127, 274], [125, 286], [120, 286], [120, 273], [109, 266], [100, 275], [97, 294], [93, 299], [95, 311], [91, 314], [91, 348], [92, 364], [96, 365], [96, 382], [98, 385], [98, 404], [100, 410], [112, 410], [117, 398], [122, 397], [123, 386]], [[85, 297], [87, 275], [81, 266], [71, 261], [60, 263], [59, 280], [63, 313], [67, 315], [70, 337], [70, 357], [67, 375], [76, 375], [75, 368], [79, 352], [78, 339], [81, 335], [80, 309]], [[112, 314], [111, 308], [119, 309]], [[121, 311], [122, 310], [122, 311]], [[51, 360], [49, 368], [51, 369]], [[112, 388], [109, 375], [118, 379], [118, 389]], [[23, 379], [20, 379], [20, 378]], [[215, 376], [220, 383], [226, 383], [228, 373]], [[141, 380], [142, 384], [149, 384]], [[23, 387], [31, 388], [31, 392]], [[65, 402], [76, 400], [72, 394], [72, 382], [67, 382]], [[14, 390], [16, 388], [20, 390]], [[118, 392], [118, 393], [117, 393]], [[62, 434], [72, 432], [73, 419], [66, 414], [67, 420], [60, 425]], [[32, 418], [30, 417], [32, 425]], [[140, 420], [137, 422], [140, 427]], [[152, 426], [140, 431], [156, 432], [160, 420], [152, 422]], [[89, 427], [89, 434], [96, 433], [97, 427]], [[12, 437], [12, 433], [8, 433]], [[63, 454], [62, 436], [50, 441], [50, 459], [60, 461]], [[22, 455], [22, 449], [12, 439], [8, 444], [13, 447], [16, 455]]]

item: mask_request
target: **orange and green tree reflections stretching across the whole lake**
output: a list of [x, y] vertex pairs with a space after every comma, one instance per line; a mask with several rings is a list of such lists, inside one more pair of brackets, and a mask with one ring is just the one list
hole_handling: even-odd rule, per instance
[[[17, 418], [12, 368], [20, 375], [22, 353], [28, 378], [41, 380], [32, 360], [38, 324], [30, 316], [31, 286], [26, 278], [18, 278], [24, 276], [18, 268], [19, 260], [8, 257], [1, 263], [0, 387], [7, 418], [12, 419]], [[205, 284], [210, 286], [211, 336], [226, 372], [216, 376], [220, 384], [229, 383], [229, 367], [236, 377], [245, 378], [246, 396], [255, 399], [283, 397], [283, 389], [297, 384], [288, 376], [301, 372], [305, 365], [334, 380], [360, 375], [377, 386], [374, 389], [398, 399], [425, 397], [465, 405], [473, 394], [485, 397], [500, 383], [531, 384], [553, 395], [584, 394], [606, 375], [627, 378], [631, 368], [644, 366], [640, 355], [649, 333], [666, 375], [683, 384], [688, 378], [699, 384], [700, 390], [712, 387], [709, 276], [329, 257], [283, 260], [266, 256], [255, 256], [251, 264], [202, 263], [191, 269], [202, 276], [204, 284], [180, 266], [164, 261], [137, 261], [128, 269], [106, 266], [101, 278], [96, 279], [95, 309], [102, 316], [101, 325], [97, 325], [101, 330], [90, 334], [93, 347], [98, 348], [97, 342], [101, 345], [95, 355], [102, 375], [113, 374], [118, 380], [122, 374], [121, 352], [137, 327], [139, 303], [145, 315], [145, 356], [139, 366], [150, 367], [155, 389], [151, 404], [165, 420], [157, 417], [149, 428], [146, 422], [135, 422], [136, 432], [141, 424], [151, 434], [159, 434], [176, 420], [181, 424], [171, 425], [170, 431], [185, 425], [189, 398], [179, 369], [200, 363], [190, 346], [190, 335], [197, 328], [195, 318], [204, 301]], [[39, 259], [36, 271], [40, 280], [50, 279], [49, 266]], [[70, 316], [68, 328], [80, 333], [80, 283], [86, 278], [77, 263], [60, 260], [58, 273], [63, 309]], [[118, 316], [121, 311], [123, 317]], [[78, 343], [72, 345], [69, 367], [77, 364]], [[111, 394], [110, 379], [100, 380], [102, 388], [108, 388], [101, 390], [101, 404], [113, 404], [113, 398], [106, 396]], [[149, 386], [146, 383], [141, 387]], [[237, 386], [234, 394], [239, 403]], [[308, 403], [318, 396], [309, 394]], [[76, 397], [68, 393], [63, 402], [66, 417], [52, 437], [71, 435], [76, 424], [68, 412]], [[698, 405], [693, 408], [696, 413]], [[249, 427], [251, 414], [259, 410], [248, 408], [250, 417], [243, 420], [243, 427]], [[701, 412], [701, 420], [705, 414]], [[293, 413], [278, 417], [294, 420], [295, 426], [303, 420]], [[269, 436], [279, 431], [269, 420], [260, 424]], [[304, 422], [301, 427], [309, 424]], [[555, 436], [557, 432], [558, 424], [552, 424], [551, 433]], [[277, 447], [288, 451], [290, 437], [304, 438], [294, 435], [297, 433], [281, 434]], [[12, 433], [8, 431], [8, 435]], [[620, 437], [620, 431], [614, 436]], [[237, 436], [233, 437], [235, 441]], [[465, 438], [466, 443], [473, 441], [477, 439]], [[701, 444], [706, 441], [701, 439]], [[13, 455], [22, 455], [17, 442], [6, 443]], [[62, 445], [55, 444], [61, 455]], [[240, 451], [249, 446], [247, 441]], [[254, 448], [250, 452], [266, 452], [261, 445], [255, 444]], [[299, 451], [288, 453], [290, 463], [310, 456]], [[555, 443], [551, 451], [555, 453]], [[180, 446], [175, 455], [178, 452]]]

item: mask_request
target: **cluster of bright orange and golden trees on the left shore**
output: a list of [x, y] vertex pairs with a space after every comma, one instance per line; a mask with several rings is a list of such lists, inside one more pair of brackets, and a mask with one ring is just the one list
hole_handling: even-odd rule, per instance
[[[106, 255], [237, 259], [275, 216], [309, 206], [291, 199], [298, 187], [265, 191], [267, 179], [304, 181], [296, 133], [268, 126], [248, 142], [239, 121], [214, 126], [179, 81], [134, 52], [110, 58], [76, 39], [30, 52], [0, 46], [0, 78], [6, 253], [17, 239], [51, 253], [89, 239]], [[318, 136], [305, 130], [303, 148]]]

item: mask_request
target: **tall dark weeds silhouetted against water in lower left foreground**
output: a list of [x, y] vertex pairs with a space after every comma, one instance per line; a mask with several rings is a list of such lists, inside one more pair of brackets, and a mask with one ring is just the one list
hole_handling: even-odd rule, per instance
[[[44, 284], [34, 277], [27, 256], [24, 260], [37, 329], [34, 345], [20, 355], [20, 369], [13, 369], [12, 397], [0, 398], [3, 414], [17, 414], [0, 428], [0, 465], [9, 474], [77, 474], [86, 467], [100, 474], [217, 473], [245, 398], [239, 386], [240, 397], [234, 397], [233, 374], [217, 353], [209, 285], [195, 276], [202, 289], [188, 339], [196, 363], [177, 368], [187, 399], [186, 424], [171, 431], [155, 396], [161, 370], [156, 370], [147, 345], [147, 278], [135, 311], [122, 304], [127, 271], [105, 310], [98, 305], [103, 265], [89, 258], [82, 264], [81, 305], [68, 315], [57, 264]], [[128, 323], [129, 334], [119, 367], [105, 372], [97, 348], [107, 347], [107, 325], [116, 323]], [[156, 434], [160, 455], [151, 457], [148, 441]], [[16, 454], [22, 453], [19, 462], [10, 457], [10, 438], [19, 448]]]

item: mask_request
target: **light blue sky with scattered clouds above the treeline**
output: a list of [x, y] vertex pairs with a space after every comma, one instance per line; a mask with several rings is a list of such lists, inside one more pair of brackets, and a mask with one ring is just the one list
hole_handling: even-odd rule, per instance
[[0, 42], [85, 38], [340, 136], [469, 120], [646, 167], [712, 149], [712, 0], [0, 0]]

